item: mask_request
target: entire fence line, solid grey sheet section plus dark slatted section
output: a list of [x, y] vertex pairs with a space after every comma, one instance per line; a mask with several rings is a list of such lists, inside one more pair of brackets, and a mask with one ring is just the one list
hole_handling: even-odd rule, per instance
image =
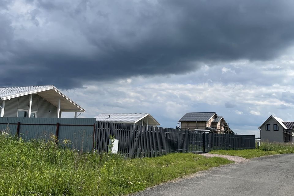
[[168, 153], [201, 153], [218, 149], [254, 149], [254, 135], [208, 134], [164, 127], [96, 122], [94, 118], [0, 118], [0, 131], [24, 139], [59, 142], [69, 139], [70, 147], [82, 151], [107, 152], [110, 136], [119, 140], [125, 157], [153, 157]]

